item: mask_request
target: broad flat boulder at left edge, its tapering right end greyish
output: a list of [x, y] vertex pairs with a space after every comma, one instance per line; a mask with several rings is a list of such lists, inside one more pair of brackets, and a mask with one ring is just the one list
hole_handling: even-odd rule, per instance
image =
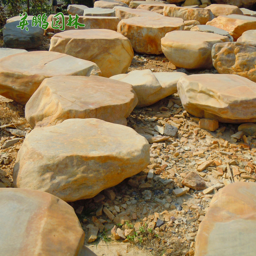
[[99, 67], [91, 61], [59, 52], [24, 52], [1, 60], [0, 94], [25, 105], [45, 78], [100, 74]]

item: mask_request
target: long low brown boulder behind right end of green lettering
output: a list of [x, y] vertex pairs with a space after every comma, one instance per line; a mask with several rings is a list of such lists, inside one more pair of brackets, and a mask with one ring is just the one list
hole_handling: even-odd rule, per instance
[[[89, 9], [89, 8], [88, 8]], [[86, 9], [87, 10], [87, 9]], [[75, 16], [72, 16], [74, 18]], [[62, 18], [60, 18], [59, 24], [62, 25], [63, 21]], [[64, 15], [64, 22], [65, 22], [65, 30], [78, 30], [78, 29], [110, 29], [116, 31], [118, 22], [120, 21], [117, 17], [106, 17], [106, 16], [80, 16], [78, 18], [78, 22], [84, 24], [84, 27], [77, 27], [75, 29], [74, 26], [68, 27], [68, 15]], [[53, 26], [55, 26], [55, 22], [57, 20], [57, 17], [53, 18], [54, 23]], [[63, 25], [62, 25], [63, 26]], [[61, 28], [62, 28], [61, 26]], [[59, 28], [54, 29], [54, 33], [63, 32]]]

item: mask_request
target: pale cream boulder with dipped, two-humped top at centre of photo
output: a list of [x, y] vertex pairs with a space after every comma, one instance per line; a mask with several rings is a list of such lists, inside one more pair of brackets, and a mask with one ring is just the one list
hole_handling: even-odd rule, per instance
[[137, 107], [146, 107], [177, 92], [177, 83], [182, 76], [187, 75], [181, 72], [152, 73], [151, 70], [144, 69], [110, 78], [132, 84], [138, 97]]

